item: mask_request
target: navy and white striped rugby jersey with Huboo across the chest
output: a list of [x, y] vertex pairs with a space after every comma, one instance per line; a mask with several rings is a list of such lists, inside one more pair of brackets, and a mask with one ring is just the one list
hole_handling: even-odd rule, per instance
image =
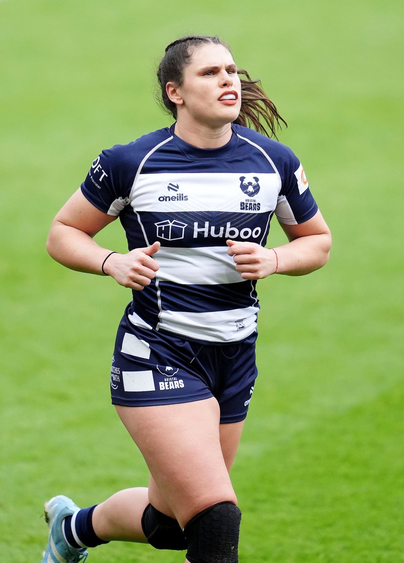
[[199, 149], [174, 124], [103, 150], [81, 189], [95, 207], [118, 216], [128, 248], [156, 240], [159, 270], [133, 291], [134, 325], [185, 339], [234, 342], [256, 328], [255, 281], [243, 280], [227, 239], [265, 245], [273, 214], [296, 225], [317, 205], [294, 153], [252, 129], [233, 125], [219, 149]]

